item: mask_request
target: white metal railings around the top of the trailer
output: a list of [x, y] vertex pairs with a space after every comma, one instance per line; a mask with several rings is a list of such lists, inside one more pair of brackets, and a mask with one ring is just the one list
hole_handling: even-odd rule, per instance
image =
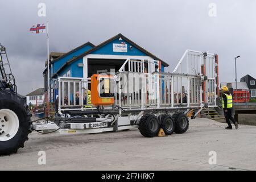
[[[159, 73], [159, 62], [156, 60], [127, 59], [117, 73], [112, 73], [115, 74], [114, 105], [124, 109], [216, 106], [214, 56], [190, 50], [184, 55], [187, 57], [181, 58], [172, 73]], [[184, 64], [187, 68], [185, 72], [181, 68]], [[201, 72], [201, 64], [205, 65], [204, 76], [207, 79]], [[85, 96], [89, 84], [90, 78], [59, 77], [59, 112], [88, 109], [85, 108]]]

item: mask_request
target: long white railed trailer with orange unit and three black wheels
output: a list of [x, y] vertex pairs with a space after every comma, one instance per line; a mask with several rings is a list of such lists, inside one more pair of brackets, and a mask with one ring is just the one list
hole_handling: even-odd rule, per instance
[[[187, 50], [174, 72], [159, 67], [158, 60], [131, 57], [118, 71], [58, 77], [55, 118], [30, 122], [30, 130], [91, 134], [138, 128], [144, 137], [156, 137], [160, 129], [166, 135], [184, 133], [188, 115], [195, 118], [203, 107], [217, 106], [218, 55]], [[3, 138], [0, 134], [0, 144]]]

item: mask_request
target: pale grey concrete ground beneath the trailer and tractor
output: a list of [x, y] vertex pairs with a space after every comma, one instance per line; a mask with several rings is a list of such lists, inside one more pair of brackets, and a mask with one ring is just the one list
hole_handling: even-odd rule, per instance
[[[17, 154], [0, 157], [0, 170], [256, 170], [256, 126], [225, 130], [198, 118], [184, 134], [145, 138], [138, 129], [58, 135], [33, 132]], [[38, 164], [38, 152], [46, 164]], [[217, 164], [208, 155], [216, 151]]]

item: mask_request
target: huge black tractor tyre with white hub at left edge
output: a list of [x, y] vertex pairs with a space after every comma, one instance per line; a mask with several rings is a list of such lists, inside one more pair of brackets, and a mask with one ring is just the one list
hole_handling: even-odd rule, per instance
[[10, 155], [24, 147], [31, 133], [31, 113], [22, 97], [0, 91], [0, 156]]

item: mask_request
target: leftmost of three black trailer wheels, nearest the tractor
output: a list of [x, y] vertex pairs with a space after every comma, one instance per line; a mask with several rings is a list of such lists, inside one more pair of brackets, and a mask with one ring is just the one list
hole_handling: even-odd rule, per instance
[[154, 114], [145, 114], [139, 121], [139, 132], [144, 137], [156, 137], [160, 130], [158, 118]]

